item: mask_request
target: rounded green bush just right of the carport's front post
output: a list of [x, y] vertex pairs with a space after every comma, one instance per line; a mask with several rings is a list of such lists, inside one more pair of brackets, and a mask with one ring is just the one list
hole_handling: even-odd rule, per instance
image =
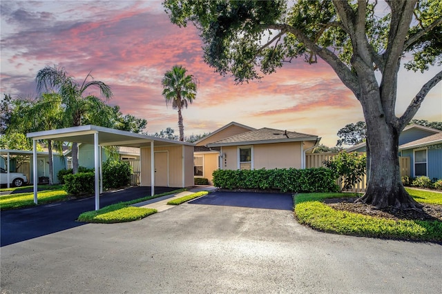
[[118, 188], [131, 184], [132, 166], [125, 161], [108, 160], [103, 164], [104, 188]]

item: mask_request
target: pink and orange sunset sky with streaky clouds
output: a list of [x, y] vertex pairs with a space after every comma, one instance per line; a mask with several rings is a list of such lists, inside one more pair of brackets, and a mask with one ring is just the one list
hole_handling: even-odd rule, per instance
[[[169, 21], [161, 1], [1, 0], [0, 94], [35, 97], [35, 75], [57, 64], [77, 81], [88, 72], [111, 86], [124, 114], [148, 121], [146, 132], [177, 128], [177, 112], [166, 108], [161, 79], [175, 64], [199, 80], [197, 98], [183, 110], [185, 135], [208, 133], [231, 121], [322, 137], [335, 146], [345, 124], [363, 120], [352, 92], [325, 62], [287, 63], [261, 81], [236, 85], [202, 59], [202, 41], [189, 25]], [[401, 70], [396, 113], [439, 68]], [[442, 83], [423, 102], [416, 119], [442, 121]]]

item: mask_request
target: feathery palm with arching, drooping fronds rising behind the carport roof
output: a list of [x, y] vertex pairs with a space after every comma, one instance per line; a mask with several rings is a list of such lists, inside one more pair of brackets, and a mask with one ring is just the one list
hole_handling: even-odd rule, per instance
[[[99, 89], [101, 95], [106, 98], [106, 101], [112, 97], [111, 88], [102, 81], [88, 81], [93, 79], [90, 72], [86, 75], [82, 84], [78, 84], [73, 77], [70, 77], [64, 68], [57, 66], [46, 66], [39, 70], [37, 77], [37, 90], [58, 92], [61, 96], [61, 101], [64, 106], [63, 121], [64, 126], [81, 126], [84, 119], [88, 119], [91, 124], [106, 125], [106, 115], [93, 115], [97, 112], [103, 112], [106, 109], [104, 101], [88, 95], [83, 97], [84, 91], [89, 87], [96, 87]], [[73, 173], [78, 170], [78, 146], [73, 142], [72, 145], [73, 157]]]

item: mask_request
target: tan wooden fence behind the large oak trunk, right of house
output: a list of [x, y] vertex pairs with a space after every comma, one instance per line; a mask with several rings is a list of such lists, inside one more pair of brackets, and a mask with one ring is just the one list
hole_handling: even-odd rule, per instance
[[[306, 168], [320, 168], [325, 167], [324, 161], [331, 159], [338, 153], [311, 153], [305, 155]], [[410, 177], [410, 157], [399, 157], [399, 166], [401, 168], [401, 177]], [[336, 184], [343, 188], [343, 180], [339, 178]], [[367, 188], [367, 175], [364, 175], [361, 182], [354, 184], [352, 189], [345, 190], [347, 192], [364, 193]]]

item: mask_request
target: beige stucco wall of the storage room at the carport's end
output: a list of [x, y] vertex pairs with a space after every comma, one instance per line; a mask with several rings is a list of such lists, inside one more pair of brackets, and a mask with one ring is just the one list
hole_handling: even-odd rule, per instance
[[[193, 186], [193, 146], [155, 147], [154, 152], [166, 151], [169, 157], [169, 186]], [[184, 175], [183, 175], [184, 156]], [[160, 164], [160, 163], [157, 163]], [[161, 164], [168, 164], [163, 162]], [[151, 148], [141, 148], [140, 186], [151, 186]], [[183, 184], [184, 176], [184, 184]]]

